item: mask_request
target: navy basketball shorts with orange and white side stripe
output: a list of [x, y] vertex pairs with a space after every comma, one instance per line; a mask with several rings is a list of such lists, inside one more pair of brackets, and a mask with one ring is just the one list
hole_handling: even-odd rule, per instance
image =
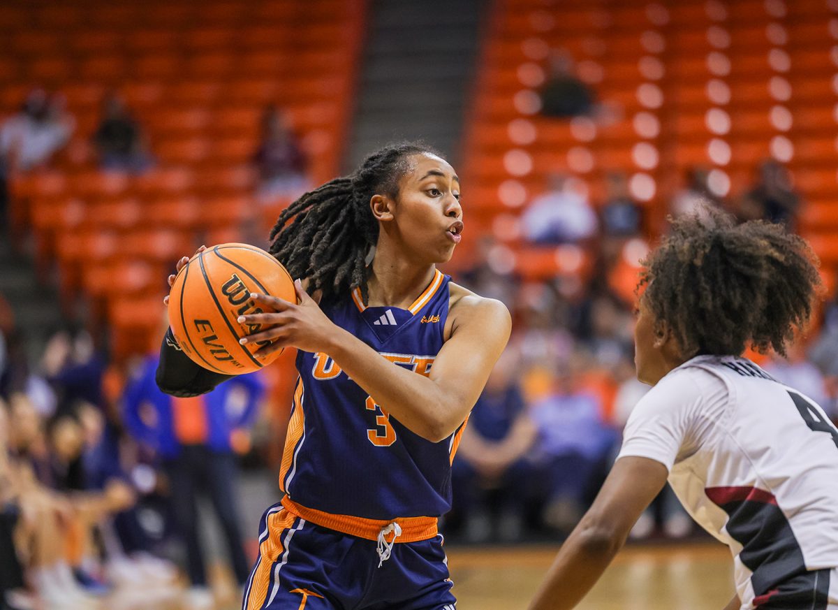
[[382, 547], [275, 504], [242, 610], [456, 610], [451, 587], [442, 535]]

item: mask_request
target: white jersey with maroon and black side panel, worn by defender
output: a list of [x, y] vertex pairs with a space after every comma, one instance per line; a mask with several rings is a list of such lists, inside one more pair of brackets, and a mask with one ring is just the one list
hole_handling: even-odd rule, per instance
[[838, 603], [838, 430], [814, 401], [748, 359], [697, 356], [639, 401], [628, 456], [664, 464], [730, 547], [742, 608]]

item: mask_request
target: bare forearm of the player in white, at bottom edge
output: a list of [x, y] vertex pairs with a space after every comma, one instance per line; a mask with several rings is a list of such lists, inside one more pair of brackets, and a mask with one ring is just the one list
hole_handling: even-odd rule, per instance
[[587, 526], [584, 521], [561, 545], [530, 610], [570, 610], [596, 584], [617, 554], [623, 540], [610, 531]]

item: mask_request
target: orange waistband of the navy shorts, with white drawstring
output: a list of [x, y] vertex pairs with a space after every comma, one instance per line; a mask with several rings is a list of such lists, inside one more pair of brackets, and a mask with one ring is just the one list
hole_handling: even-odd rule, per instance
[[396, 542], [419, 542], [437, 535], [436, 517], [401, 517], [392, 521], [365, 519], [364, 517], [353, 517], [349, 514], [331, 514], [324, 513], [322, 510], [309, 509], [297, 504], [288, 496], [282, 499], [282, 506], [289, 513], [296, 514], [297, 517], [301, 517], [314, 525], [365, 540], [378, 540], [380, 531], [391, 523], [397, 523], [401, 526], [401, 535], [396, 538]]

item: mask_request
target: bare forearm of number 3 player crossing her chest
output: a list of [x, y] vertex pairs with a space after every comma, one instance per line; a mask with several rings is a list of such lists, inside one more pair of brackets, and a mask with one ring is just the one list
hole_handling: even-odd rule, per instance
[[336, 331], [328, 354], [377, 405], [429, 441], [448, 437], [471, 407], [461, 408], [433, 380], [391, 363], [343, 328]]

